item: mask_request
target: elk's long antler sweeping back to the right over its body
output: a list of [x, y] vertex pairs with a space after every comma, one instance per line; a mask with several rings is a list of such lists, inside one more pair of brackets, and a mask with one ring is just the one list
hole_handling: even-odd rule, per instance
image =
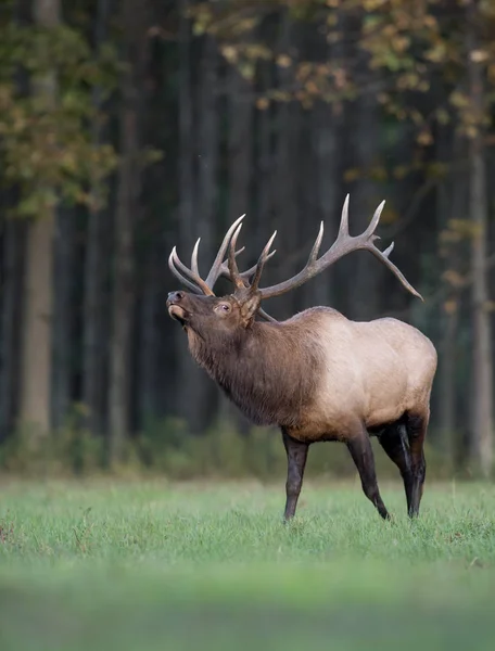
[[385, 265], [385, 267], [388, 267], [394, 273], [394, 276], [398, 278], [398, 280], [406, 288], [406, 290], [408, 290], [411, 294], [423, 301], [421, 294], [415, 290], [415, 288], [407, 281], [402, 271], [397, 269], [397, 267], [389, 259], [394, 244], [392, 243], [385, 251], [380, 251], [373, 244], [375, 240], [379, 239], [379, 235], [376, 235], [375, 231], [377, 229], [378, 222], [380, 221], [380, 216], [384, 205], [385, 202], [383, 201], [375, 210], [375, 215], [365, 232], [363, 232], [360, 235], [356, 235], [353, 238], [348, 233], [347, 194], [347, 196], [345, 197], [344, 207], [342, 208], [342, 218], [337, 240], [332, 244], [332, 246], [327, 251], [327, 253], [325, 253], [320, 258], [318, 258], [318, 252], [321, 245], [321, 240], [323, 238], [323, 222], [321, 222], [318, 237], [316, 238], [315, 244], [313, 245], [312, 252], [309, 253], [309, 257], [304, 269], [302, 269], [299, 273], [296, 273], [289, 280], [271, 285], [269, 288], [257, 290], [257, 283], [259, 282], [259, 277], [262, 275], [263, 267], [269, 257], [268, 251], [276, 234], [274, 233], [268, 244], [263, 250], [262, 255], [259, 256], [258, 263], [256, 265], [256, 275], [254, 279], [255, 281], [253, 281], [253, 284], [251, 285], [253, 291], [257, 290], [261, 293], [262, 298], [271, 298], [272, 296], [280, 296], [281, 294], [284, 294], [285, 292], [289, 292], [290, 290], [293, 290], [294, 288], [297, 288], [303, 283], [307, 282], [310, 278], [313, 278], [317, 273], [320, 273], [320, 271], [322, 271], [327, 267], [330, 267], [330, 265], [333, 265], [333, 263], [335, 263], [344, 255], [347, 255], [353, 251], [365, 250], [372, 253], [383, 265]]

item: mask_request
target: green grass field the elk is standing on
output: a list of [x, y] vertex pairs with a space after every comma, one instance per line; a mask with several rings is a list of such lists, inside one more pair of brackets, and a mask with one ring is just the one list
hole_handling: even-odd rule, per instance
[[5, 483], [0, 649], [495, 649], [495, 486]]

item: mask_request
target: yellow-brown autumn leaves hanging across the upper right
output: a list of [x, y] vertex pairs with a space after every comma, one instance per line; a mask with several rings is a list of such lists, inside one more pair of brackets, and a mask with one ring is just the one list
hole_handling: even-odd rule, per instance
[[[495, 101], [493, 2], [480, 2], [477, 12], [483, 27], [472, 51], [467, 46], [466, 8], [454, 3], [445, 16], [437, 0], [271, 0], [263, 10], [255, 0], [220, 0], [196, 4], [191, 15], [196, 33], [214, 35], [226, 59], [246, 78], [253, 79], [256, 65], [267, 61], [291, 67], [290, 90], [269, 89], [265, 99], [270, 101], [296, 100], [310, 106], [317, 100], [355, 100], [370, 92], [365, 67], [380, 80], [378, 98], [384, 110], [399, 122], [410, 122], [418, 143], [429, 146], [434, 120], [453, 122], [468, 137], [490, 124]], [[300, 47], [295, 60], [279, 52], [277, 41], [263, 40], [259, 27], [275, 15], [313, 25], [312, 44]], [[320, 43], [321, 52], [325, 41], [327, 54], [315, 56], [314, 43]], [[468, 60], [482, 66], [487, 80], [482, 116], [464, 85]], [[446, 102], [437, 101], [439, 87]]]

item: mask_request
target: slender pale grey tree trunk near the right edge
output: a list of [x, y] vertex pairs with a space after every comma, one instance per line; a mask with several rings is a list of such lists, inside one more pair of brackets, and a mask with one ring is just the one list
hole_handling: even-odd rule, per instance
[[468, 3], [468, 81], [475, 132], [469, 146], [469, 213], [473, 225], [472, 240], [472, 318], [473, 318], [473, 435], [472, 459], [487, 477], [493, 465], [493, 360], [491, 309], [487, 288], [487, 192], [482, 120], [484, 117], [484, 64], [475, 56], [479, 50], [481, 15], [479, 3]]

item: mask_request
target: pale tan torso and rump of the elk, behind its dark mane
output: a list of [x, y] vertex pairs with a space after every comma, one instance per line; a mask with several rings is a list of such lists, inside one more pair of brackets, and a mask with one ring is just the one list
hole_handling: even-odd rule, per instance
[[304, 341], [319, 349], [322, 360], [314, 401], [290, 431], [297, 441], [345, 441], [358, 423], [373, 430], [405, 412], [429, 412], [436, 350], [416, 328], [392, 318], [351, 321], [321, 307], [281, 328], [304, 329]]

